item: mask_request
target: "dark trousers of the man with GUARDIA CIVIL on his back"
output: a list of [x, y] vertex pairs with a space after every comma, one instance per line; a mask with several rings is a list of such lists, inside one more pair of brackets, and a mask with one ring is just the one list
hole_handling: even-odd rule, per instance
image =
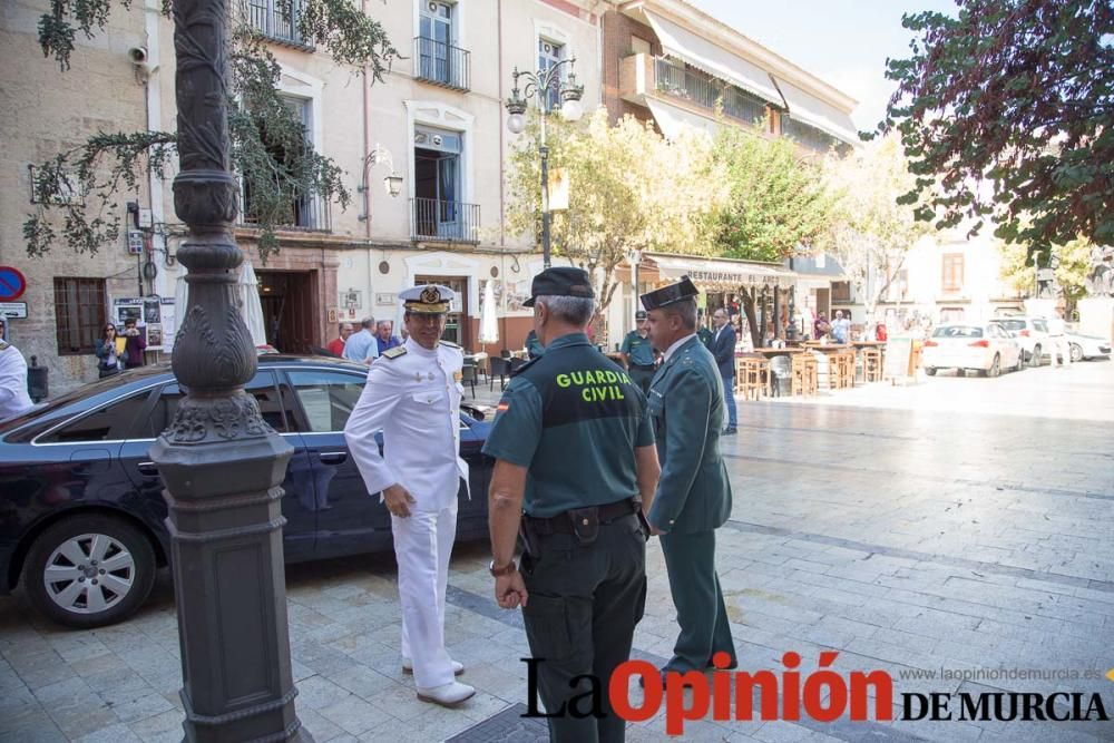
[[[634, 627], [646, 606], [646, 538], [635, 515], [599, 526], [599, 536], [582, 546], [573, 535], [538, 539], [539, 557], [524, 557], [522, 579], [529, 593], [522, 617], [538, 666], [538, 693], [550, 714], [549, 737], [556, 743], [623, 741], [626, 722], [614, 714], [607, 685], [612, 672], [631, 657]], [[574, 717], [569, 700], [590, 690], [573, 678], [598, 681], [603, 717]], [[590, 698], [590, 697], [586, 697]], [[578, 710], [587, 712], [579, 701]]]

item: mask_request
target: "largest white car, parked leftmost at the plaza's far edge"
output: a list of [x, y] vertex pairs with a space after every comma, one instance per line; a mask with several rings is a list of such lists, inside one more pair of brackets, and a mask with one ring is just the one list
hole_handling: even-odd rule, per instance
[[925, 341], [921, 366], [931, 377], [938, 369], [959, 373], [974, 369], [983, 377], [997, 377], [1003, 369], [1022, 368], [1022, 346], [997, 322], [940, 325]]

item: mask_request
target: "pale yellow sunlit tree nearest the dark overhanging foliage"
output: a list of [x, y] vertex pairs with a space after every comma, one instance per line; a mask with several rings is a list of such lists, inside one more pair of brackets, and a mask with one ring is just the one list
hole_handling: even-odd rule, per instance
[[818, 246], [839, 262], [869, 320], [909, 248], [931, 229], [916, 219], [911, 206], [898, 203], [913, 176], [897, 136], [876, 139], [846, 157], [833, 153], [823, 173], [836, 206]]

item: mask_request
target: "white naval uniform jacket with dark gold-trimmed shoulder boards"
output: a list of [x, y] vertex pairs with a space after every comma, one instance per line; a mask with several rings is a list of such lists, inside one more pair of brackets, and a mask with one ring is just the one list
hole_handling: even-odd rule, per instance
[[460, 458], [463, 387], [457, 381], [463, 355], [443, 342], [430, 351], [407, 339], [402, 348], [405, 353], [371, 364], [344, 439], [369, 493], [398, 482], [419, 510], [448, 508], [457, 498], [458, 478], [468, 482], [468, 465]]

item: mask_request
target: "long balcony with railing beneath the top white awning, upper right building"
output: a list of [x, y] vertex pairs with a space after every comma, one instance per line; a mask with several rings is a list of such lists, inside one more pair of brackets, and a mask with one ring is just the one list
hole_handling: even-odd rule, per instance
[[631, 55], [620, 61], [619, 95], [639, 105], [645, 105], [647, 95], [664, 96], [707, 114], [713, 114], [720, 105], [725, 117], [751, 125], [766, 116], [766, 101], [762, 98], [682, 61], [645, 53]]

